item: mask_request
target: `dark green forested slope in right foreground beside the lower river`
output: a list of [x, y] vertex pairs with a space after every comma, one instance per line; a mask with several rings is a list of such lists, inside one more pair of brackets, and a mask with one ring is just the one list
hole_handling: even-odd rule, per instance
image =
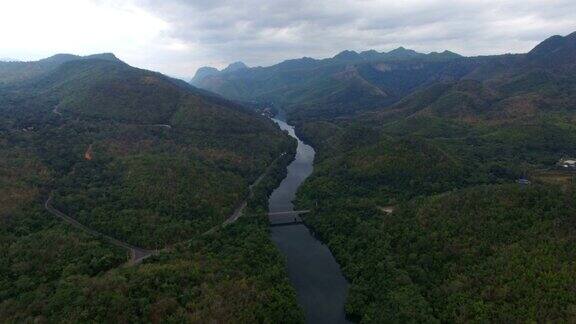
[[331, 205], [306, 222], [343, 265], [347, 312], [362, 322], [571, 321], [573, 201], [544, 186], [480, 186], [392, 214]]

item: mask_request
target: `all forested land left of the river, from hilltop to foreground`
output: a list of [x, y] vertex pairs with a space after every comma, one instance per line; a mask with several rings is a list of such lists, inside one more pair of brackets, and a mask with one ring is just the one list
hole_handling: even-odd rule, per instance
[[[260, 205], [227, 234], [203, 235], [275, 161], [285, 165], [278, 158], [293, 152], [288, 135], [113, 55], [9, 64], [0, 70], [0, 322], [301, 319]], [[128, 251], [50, 214], [49, 196], [93, 231], [171, 249], [110, 271]], [[215, 295], [231, 303], [223, 313]]]

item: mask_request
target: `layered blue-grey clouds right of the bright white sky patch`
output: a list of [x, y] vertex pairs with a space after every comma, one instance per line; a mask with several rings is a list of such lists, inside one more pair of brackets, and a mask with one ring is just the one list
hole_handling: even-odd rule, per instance
[[[139, 0], [168, 35], [202, 48], [196, 65], [327, 57], [343, 49], [525, 52], [576, 29], [573, 0]], [[192, 64], [194, 65], [194, 64]], [[192, 71], [190, 71], [192, 72]]]

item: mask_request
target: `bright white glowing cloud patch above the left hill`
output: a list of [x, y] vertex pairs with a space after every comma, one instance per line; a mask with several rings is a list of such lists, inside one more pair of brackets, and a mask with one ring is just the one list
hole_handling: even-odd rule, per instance
[[62, 52], [138, 52], [168, 24], [129, 2], [0, 2], [0, 53], [24, 60]]

